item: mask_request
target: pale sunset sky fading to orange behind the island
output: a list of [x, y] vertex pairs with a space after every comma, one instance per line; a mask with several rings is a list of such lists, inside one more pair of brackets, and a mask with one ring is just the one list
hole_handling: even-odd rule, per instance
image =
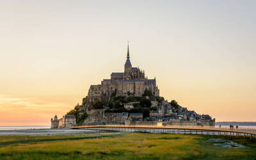
[[256, 1], [0, 0], [0, 125], [51, 125], [132, 66], [216, 121], [256, 121]]

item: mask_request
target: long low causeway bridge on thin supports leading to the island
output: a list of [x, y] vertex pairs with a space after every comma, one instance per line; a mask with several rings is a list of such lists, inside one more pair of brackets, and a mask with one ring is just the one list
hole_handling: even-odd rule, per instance
[[86, 129], [109, 132], [148, 132], [169, 134], [219, 135], [236, 138], [256, 138], [256, 129], [239, 127], [187, 126], [187, 125], [81, 125], [71, 129]]

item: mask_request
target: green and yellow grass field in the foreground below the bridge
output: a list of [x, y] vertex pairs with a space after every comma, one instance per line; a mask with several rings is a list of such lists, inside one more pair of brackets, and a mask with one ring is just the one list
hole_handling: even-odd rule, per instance
[[0, 159], [256, 159], [256, 143], [223, 148], [206, 136], [120, 134], [109, 136], [0, 136]]

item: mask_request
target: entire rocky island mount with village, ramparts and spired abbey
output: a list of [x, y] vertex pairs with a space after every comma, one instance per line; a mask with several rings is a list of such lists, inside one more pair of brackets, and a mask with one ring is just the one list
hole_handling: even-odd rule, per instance
[[211, 116], [199, 115], [175, 100], [168, 102], [160, 97], [156, 78], [148, 79], [144, 70], [132, 67], [129, 45], [124, 72], [113, 72], [110, 79], [91, 85], [82, 104], [77, 104], [60, 120], [57, 117], [51, 120], [52, 128], [94, 124], [156, 125], [159, 122], [215, 125]]

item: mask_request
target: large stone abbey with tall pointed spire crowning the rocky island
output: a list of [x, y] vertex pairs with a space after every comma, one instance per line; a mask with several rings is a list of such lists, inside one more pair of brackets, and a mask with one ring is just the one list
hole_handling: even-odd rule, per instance
[[159, 96], [156, 77], [148, 79], [145, 77], [144, 70], [132, 67], [128, 45], [124, 72], [113, 72], [110, 79], [103, 79], [101, 84], [91, 85], [87, 99], [88, 102], [93, 102], [96, 99], [108, 101], [112, 93], [115, 93], [116, 96], [134, 95], [140, 97], [146, 89]]

